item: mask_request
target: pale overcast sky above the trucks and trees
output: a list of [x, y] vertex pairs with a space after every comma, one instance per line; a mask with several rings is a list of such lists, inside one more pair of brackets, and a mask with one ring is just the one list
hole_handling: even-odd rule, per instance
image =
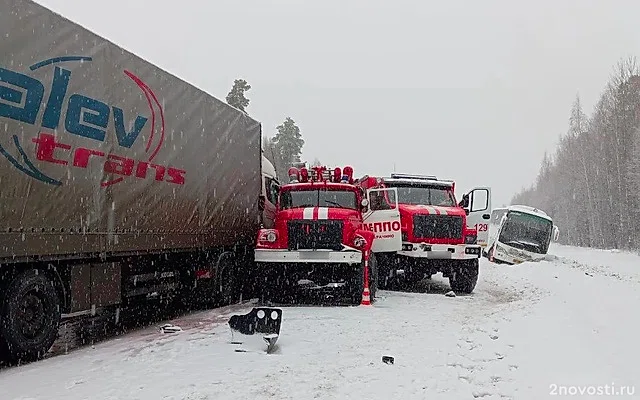
[[244, 78], [269, 136], [357, 175], [436, 174], [507, 203], [614, 65], [638, 0], [37, 0], [223, 99]]

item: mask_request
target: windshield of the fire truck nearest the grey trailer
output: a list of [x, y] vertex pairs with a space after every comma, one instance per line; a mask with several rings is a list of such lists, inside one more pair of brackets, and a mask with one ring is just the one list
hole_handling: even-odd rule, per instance
[[358, 209], [356, 193], [348, 190], [286, 190], [280, 193], [280, 208], [338, 207]]

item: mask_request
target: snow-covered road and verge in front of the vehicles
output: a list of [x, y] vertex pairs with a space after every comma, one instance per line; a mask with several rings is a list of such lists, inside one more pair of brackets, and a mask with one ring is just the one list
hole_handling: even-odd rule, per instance
[[483, 259], [470, 296], [444, 296], [434, 277], [369, 308], [285, 308], [271, 355], [228, 343], [228, 317], [249, 307], [192, 314], [172, 321], [177, 334], [145, 329], [0, 371], [0, 398], [640, 398], [640, 256], [551, 252], [517, 267]]

